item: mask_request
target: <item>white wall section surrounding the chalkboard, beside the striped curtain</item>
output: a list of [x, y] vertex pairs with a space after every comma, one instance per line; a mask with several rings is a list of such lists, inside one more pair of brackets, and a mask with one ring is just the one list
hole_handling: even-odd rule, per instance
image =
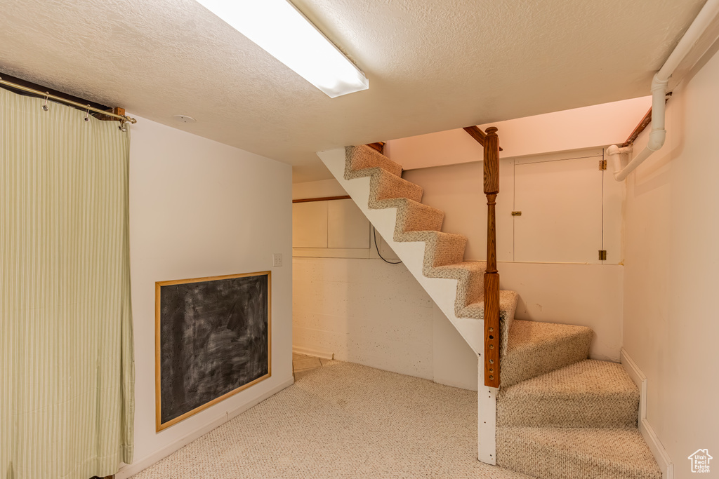
[[[134, 463], [146, 468], [292, 383], [291, 167], [149, 120], [132, 126]], [[272, 254], [285, 257], [273, 268]], [[155, 432], [155, 282], [272, 271], [272, 377]]]

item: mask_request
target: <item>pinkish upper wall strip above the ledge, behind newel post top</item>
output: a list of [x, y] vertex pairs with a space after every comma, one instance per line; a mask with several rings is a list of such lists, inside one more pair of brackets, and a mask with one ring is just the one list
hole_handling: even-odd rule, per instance
[[[500, 158], [623, 143], [651, 107], [651, 96], [497, 121]], [[462, 129], [390, 140], [385, 154], [404, 169], [476, 162], [480, 144]]]

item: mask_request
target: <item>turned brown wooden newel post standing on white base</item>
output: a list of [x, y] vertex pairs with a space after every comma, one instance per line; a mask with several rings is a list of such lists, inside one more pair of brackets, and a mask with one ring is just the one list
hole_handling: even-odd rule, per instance
[[487, 195], [487, 271], [485, 271], [485, 386], [499, 387], [499, 273], [495, 205], [499, 193], [499, 136], [490, 126], [485, 137], [485, 195]]

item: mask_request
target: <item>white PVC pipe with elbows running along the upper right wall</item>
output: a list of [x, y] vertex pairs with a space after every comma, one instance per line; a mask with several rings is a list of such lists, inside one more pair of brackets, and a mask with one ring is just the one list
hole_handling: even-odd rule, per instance
[[[707, 0], [694, 19], [694, 22], [692, 22], [687, 29], [687, 32], [684, 33], [682, 39], [679, 40], [677, 47], [674, 48], [674, 51], [669, 55], [667, 61], [664, 62], [664, 65], [662, 65], [659, 71], [654, 75], [654, 78], [651, 80], [651, 132], [649, 133], [649, 142], [631, 162], [619, 171], [614, 172], [615, 180], [624, 180], [629, 173], [633, 172], [645, 159], [649, 158], [649, 155], [664, 146], [664, 140], [667, 139], [667, 130], [664, 129], [664, 116], [666, 113], [666, 95], [669, 77], [672, 76], [672, 73], [677, 69], [679, 63], [684, 60], [687, 53], [692, 50], [692, 47], [717, 14], [719, 14], [719, 0]], [[607, 152], [610, 155], [616, 154], [618, 158], [618, 149], [613, 150], [610, 147]], [[618, 164], [620, 164], [620, 162], [618, 162]]]

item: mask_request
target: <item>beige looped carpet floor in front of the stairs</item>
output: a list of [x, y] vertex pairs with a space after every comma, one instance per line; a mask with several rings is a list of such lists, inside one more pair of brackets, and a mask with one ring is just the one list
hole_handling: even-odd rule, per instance
[[493, 478], [477, 393], [330, 361], [134, 479]]

